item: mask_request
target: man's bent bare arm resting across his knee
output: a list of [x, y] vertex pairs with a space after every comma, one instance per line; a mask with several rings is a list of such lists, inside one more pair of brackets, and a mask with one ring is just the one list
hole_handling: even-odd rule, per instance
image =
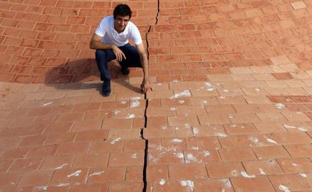
[[123, 52], [114, 44], [104, 44], [101, 42], [102, 37], [97, 34], [93, 34], [90, 40], [90, 49], [112, 49], [113, 53], [116, 56], [118, 61], [121, 61], [123, 58], [125, 59], [125, 55]]

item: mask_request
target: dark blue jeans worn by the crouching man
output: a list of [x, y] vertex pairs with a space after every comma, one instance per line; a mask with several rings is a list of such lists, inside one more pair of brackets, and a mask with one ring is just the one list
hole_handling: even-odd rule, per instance
[[[129, 43], [118, 47], [126, 59], [119, 61], [122, 68], [126, 67], [142, 67], [139, 59], [138, 52], [134, 46], [131, 46]], [[100, 79], [102, 81], [110, 80], [110, 74], [107, 68], [107, 62], [116, 59], [115, 54], [111, 49], [96, 49], [95, 51], [95, 60], [100, 72]]]

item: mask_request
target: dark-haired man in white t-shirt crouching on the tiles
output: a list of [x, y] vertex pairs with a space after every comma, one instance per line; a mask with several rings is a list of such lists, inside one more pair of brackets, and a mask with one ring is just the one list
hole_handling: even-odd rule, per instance
[[[143, 68], [141, 90], [150, 89], [148, 81], [148, 61], [142, 38], [137, 27], [130, 21], [131, 9], [126, 4], [118, 4], [113, 10], [113, 16], [103, 18], [96, 28], [90, 41], [90, 48], [96, 49], [95, 59], [100, 79], [103, 81], [102, 94], [109, 96], [110, 75], [107, 62], [117, 59], [121, 72], [129, 74], [128, 67]], [[135, 47], [128, 43], [132, 39]]]

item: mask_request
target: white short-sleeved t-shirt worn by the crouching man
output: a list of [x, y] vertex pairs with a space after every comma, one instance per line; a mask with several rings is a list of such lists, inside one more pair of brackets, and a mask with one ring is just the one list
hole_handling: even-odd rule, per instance
[[115, 44], [118, 47], [127, 44], [128, 39], [132, 39], [135, 45], [142, 43], [141, 34], [134, 23], [128, 21], [125, 29], [118, 33], [114, 28], [113, 16], [104, 17], [97, 26], [95, 34], [103, 37], [102, 43]]

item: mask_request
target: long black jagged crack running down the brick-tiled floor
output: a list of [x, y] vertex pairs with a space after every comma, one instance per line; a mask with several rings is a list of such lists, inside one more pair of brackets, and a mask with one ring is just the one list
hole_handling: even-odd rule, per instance
[[[156, 14], [156, 16], [155, 16], [155, 23], [154, 23], [154, 25], [156, 25], [157, 22], [158, 22], [159, 4], [160, 4], [160, 0], [157, 0], [157, 14]], [[149, 31], [150, 31], [150, 28], [151, 28], [151, 25], [148, 26], [148, 30], [147, 30], [147, 32], [146, 32], [146, 34], [145, 34], [147, 61], [149, 61], [148, 33], [149, 33]], [[143, 175], [143, 177], [142, 177], [142, 180], [143, 180], [143, 189], [142, 189], [142, 192], [146, 192], [146, 189], [147, 189], [146, 169], [147, 169], [147, 156], [148, 156], [148, 139], [145, 139], [145, 138], [144, 138], [144, 135], [143, 135], [143, 130], [144, 130], [144, 128], [147, 128], [147, 116], [146, 116], [146, 111], [147, 111], [147, 108], [148, 108], [148, 99], [147, 99], [146, 93], [144, 94], [144, 99], [145, 99], [145, 101], [146, 101], [146, 103], [145, 103], [145, 110], [144, 110], [144, 127], [141, 128], [141, 131], [140, 131], [141, 139], [145, 140], [144, 163], [143, 163], [143, 173], [142, 173], [142, 175]]]

